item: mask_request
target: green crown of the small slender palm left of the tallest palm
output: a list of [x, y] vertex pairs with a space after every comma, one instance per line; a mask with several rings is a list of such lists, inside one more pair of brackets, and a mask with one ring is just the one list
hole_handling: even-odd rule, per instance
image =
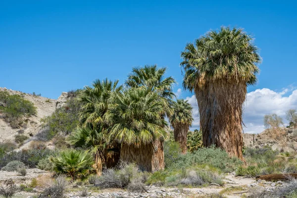
[[173, 104], [173, 114], [170, 117], [170, 123], [173, 128], [178, 125], [187, 125], [190, 127], [192, 125], [192, 106], [188, 100], [178, 99]]

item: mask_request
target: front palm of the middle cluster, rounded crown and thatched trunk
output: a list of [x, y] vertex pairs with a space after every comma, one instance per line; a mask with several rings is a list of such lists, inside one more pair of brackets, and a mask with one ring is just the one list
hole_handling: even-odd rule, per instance
[[110, 126], [109, 140], [121, 143], [121, 160], [135, 162], [143, 171], [164, 168], [160, 140], [167, 133], [162, 112], [160, 96], [144, 87], [129, 88], [114, 97], [106, 120]]

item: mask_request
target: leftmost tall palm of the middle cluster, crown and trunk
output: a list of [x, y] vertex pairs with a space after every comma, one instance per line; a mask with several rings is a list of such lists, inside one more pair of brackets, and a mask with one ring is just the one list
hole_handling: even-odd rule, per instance
[[[120, 145], [115, 142], [106, 144], [106, 129], [104, 115], [112, 103], [112, 96], [121, 92], [122, 86], [117, 81], [96, 80], [93, 86], [86, 86], [79, 95], [82, 102], [80, 122], [82, 129], [70, 136], [69, 141], [77, 147], [92, 149], [96, 155], [94, 168], [100, 174], [102, 165], [116, 165], [119, 160]], [[83, 144], [83, 145], [81, 145]]]

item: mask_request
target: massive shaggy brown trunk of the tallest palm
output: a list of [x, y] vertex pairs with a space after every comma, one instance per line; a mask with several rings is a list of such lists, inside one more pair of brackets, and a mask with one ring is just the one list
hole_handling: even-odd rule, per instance
[[203, 146], [216, 145], [225, 149], [231, 157], [244, 160], [242, 107], [247, 94], [246, 83], [205, 82], [195, 93]]

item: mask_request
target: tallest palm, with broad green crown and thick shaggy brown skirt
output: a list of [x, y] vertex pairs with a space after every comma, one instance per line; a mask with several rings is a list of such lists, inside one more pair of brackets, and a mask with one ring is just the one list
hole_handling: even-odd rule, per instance
[[261, 59], [253, 38], [243, 29], [222, 27], [187, 44], [181, 57], [183, 86], [198, 101], [203, 146], [214, 144], [243, 159], [243, 103]]

